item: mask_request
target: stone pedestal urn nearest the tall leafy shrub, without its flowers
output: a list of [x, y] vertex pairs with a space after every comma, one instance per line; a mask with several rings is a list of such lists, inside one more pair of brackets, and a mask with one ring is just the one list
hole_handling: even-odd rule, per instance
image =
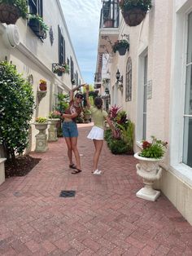
[[48, 149], [47, 143], [47, 135], [46, 135], [46, 128], [48, 123], [34, 123], [35, 128], [39, 130], [39, 133], [35, 136], [36, 137], [36, 148], [35, 152], [46, 152]]

